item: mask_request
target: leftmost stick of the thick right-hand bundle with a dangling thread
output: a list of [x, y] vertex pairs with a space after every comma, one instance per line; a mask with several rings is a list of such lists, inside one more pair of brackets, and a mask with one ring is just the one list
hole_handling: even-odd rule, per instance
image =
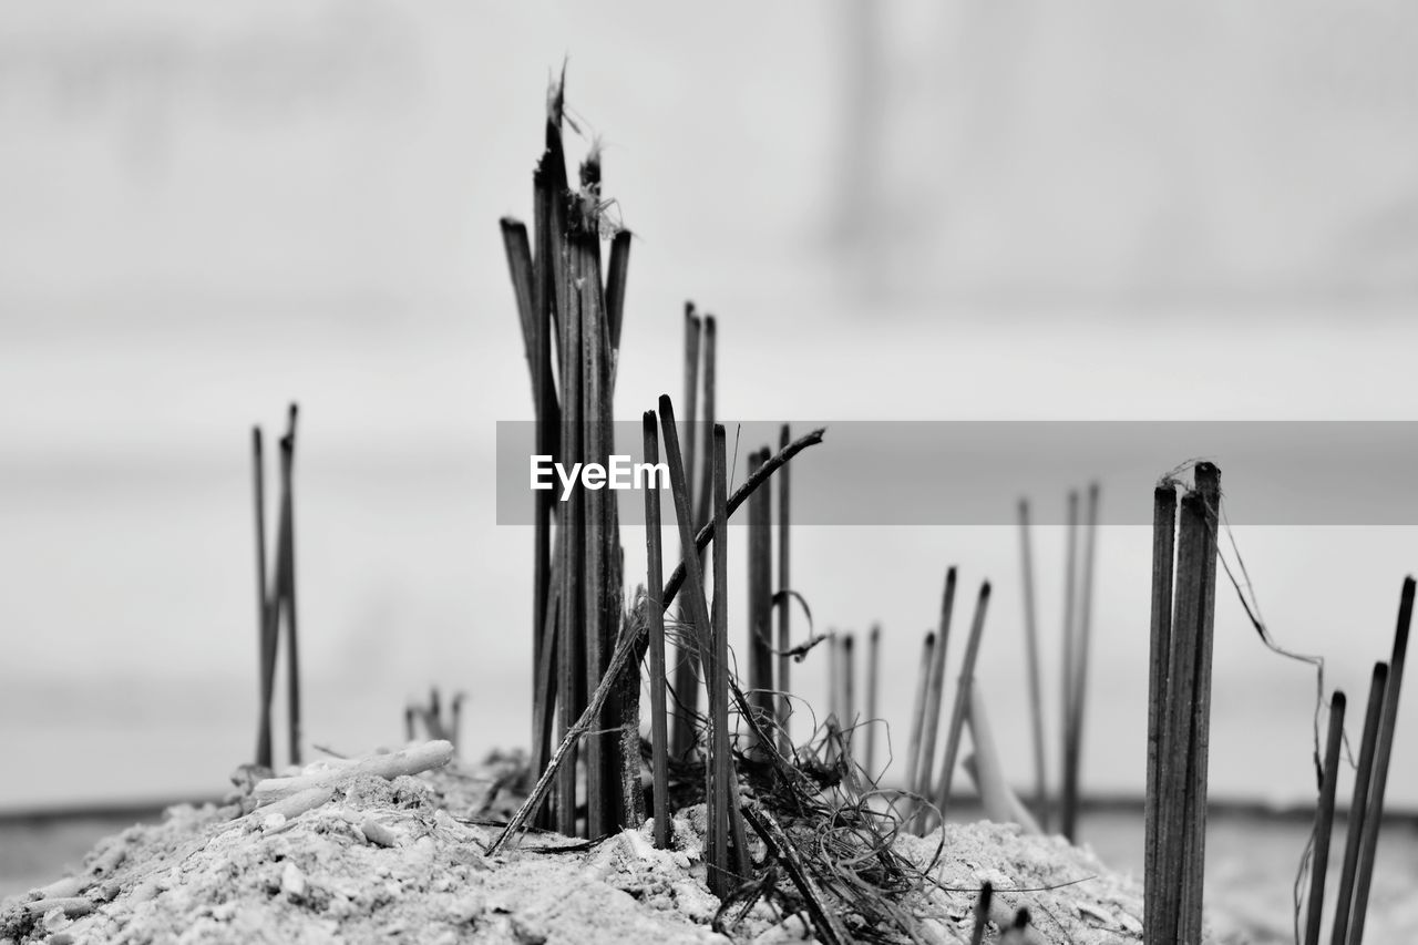
[[1151, 643], [1147, 682], [1147, 797], [1144, 802], [1146, 843], [1143, 866], [1143, 938], [1163, 941], [1160, 928], [1161, 871], [1157, 807], [1161, 790], [1163, 705], [1167, 700], [1167, 664], [1171, 653], [1171, 579], [1177, 535], [1177, 488], [1159, 485], [1153, 491]]

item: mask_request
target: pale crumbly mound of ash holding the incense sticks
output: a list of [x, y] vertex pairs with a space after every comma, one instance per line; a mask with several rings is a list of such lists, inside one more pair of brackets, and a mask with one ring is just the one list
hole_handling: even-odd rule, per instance
[[[784, 895], [727, 910], [715, 931], [702, 806], [675, 819], [672, 850], [655, 850], [648, 827], [590, 844], [532, 831], [489, 858], [486, 824], [520, 800], [503, 790], [518, 766], [357, 778], [289, 822], [251, 813], [250, 788], [223, 806], [173, 807], [162, 824], [102, 840], [75, 875], [6, 901], [0, 942], [815, 941], [804, 912], [784, 915], [784, 902], [801, 902], [786, 877]], [[919, 941], [968, 941], [986, 880], [993, 918], [1029, 910], [1025, 941], [1141, 941], [1140, 885], [1059, 837], [981, 822], [900, 836], [895, 851], [934, 881], [896, 902]], [[753, 854], [761, 861], [763, 849]], [[908, 941], [849, 908], [841, 917], [861, 941]], [[986, 941], [1010, 941], [998, 935], [991, 927]]]

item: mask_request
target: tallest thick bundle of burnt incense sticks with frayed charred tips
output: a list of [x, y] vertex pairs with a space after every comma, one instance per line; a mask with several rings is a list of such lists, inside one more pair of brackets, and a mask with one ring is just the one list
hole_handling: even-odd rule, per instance
[[[536, 448], [566, 465], [605, 464], [614, 451], [611, 404], [630, 233], [614, 233], [603, 280], [608, 201], [601, 199], [600, 152], [591, 148], [573, 189], [562, 135], [564, 92], [563, 74], [547, 96], [546, 143], [533, 173], [535, 255], [523, 224], [503, 220], [502, 233], [532, 375]], [[570, 731], [607, 670], [623, 620], [623, 580], [620, 522], [610, 491], [573, 490], [564, 502], [539, 491], [533, 509], [532, 761], [540, 773], [556, 731]], [[625, 705], [625, 698], [608, 700], [594, 731], [618, 732], [628, 724]], [[540, 817], [543, 826], [600, 836], [634, 820], [635, 799], [624, 785], [627, 769], [638, 770], [638, 758], [625, 756], [624, 741], [587, 739], [584, 797], [577, 797], [576, 765], [563, 765], [552, 809]], [[584, 823], [577, 822], [580, 800]]]

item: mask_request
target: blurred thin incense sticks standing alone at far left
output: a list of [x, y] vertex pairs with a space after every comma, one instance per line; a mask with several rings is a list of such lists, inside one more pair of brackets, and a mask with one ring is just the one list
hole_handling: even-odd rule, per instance
[[261, 427], [251, 430], [251, 471], [255, 499], [257, 536], [257, 653], [259, 680], [259, 718], [257, 721], [255, 763], [274, 765], [271, 722], [275, 698], [275, 664], [281, 646], [281, 627], [286, 643], [286, 712], [292, 765], [301, 763], [301, 663], [296, 646], [295, 606], [295, 421], [299, 414], [291, 404], [285, 436], [281, 437], [281, 499], [275, 538], [275, 565], [267, 576], [265, 457]]

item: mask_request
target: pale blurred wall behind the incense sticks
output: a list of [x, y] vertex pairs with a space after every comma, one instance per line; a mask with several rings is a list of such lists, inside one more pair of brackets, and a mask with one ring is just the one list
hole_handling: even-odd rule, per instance
[[[250, 759], [247, 448], [289, 400], [309, 739], [396, 744], [438, 684], [468, 694], [465, 753], [526, 744], [530, 529], [495, 524], [493, 434], [532, 400], [498, 219], [530, 217], [563, 58], [638, 237], [621, 419], [681, 390], [692, 298], [723, 417], [1412, 420], [1415, 44], [1391, 0], [0, 6], [0, 809], [206, 797]], [[830, 436], [797, 475], [831, 461]], [[1150, 505], [1098, 474], [1105, 514]], [[1025, 785], [1011, 515], [804, 526], [794, 585], [818, 630], [882, 623], [900, 741], [946, 565], [963, 602], [990, 578], [980, 673]], [[1418, 532], [1235, 538], [1276, 639], [1361, 705]], [[1034, 541], [1056, 667], [1062, 529]], [[1140, 796], [1150, 534], [1098, 541], [1083, 782]], [[1212, 796], [1305, 803], [1314, 673], [1228, 587], [1215, 647]], [[1414, 700], [1398, 725], [1411, 809]]]

